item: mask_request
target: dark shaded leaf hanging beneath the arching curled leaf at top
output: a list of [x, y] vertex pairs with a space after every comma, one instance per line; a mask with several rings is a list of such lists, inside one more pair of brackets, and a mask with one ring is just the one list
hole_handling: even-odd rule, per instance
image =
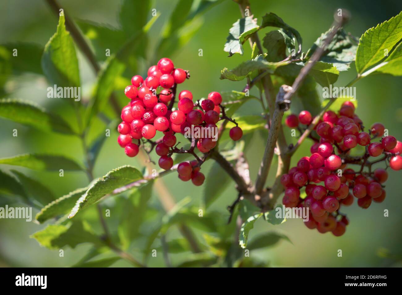
[[263, 39], [263, 46], [267, 49], [267, 60], [282, 61], [295, 48], [295, 39], [282, 29], [270, 31]]

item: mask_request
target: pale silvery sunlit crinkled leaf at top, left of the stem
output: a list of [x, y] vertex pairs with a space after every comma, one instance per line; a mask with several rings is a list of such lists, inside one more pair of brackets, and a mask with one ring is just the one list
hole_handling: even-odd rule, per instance
[[251, 34], [258, 31], [258, 28], [258, 25], [251, 16], [238, 19], [229, 30], [229, 36], [226, 38], [224, 51], [243, 55], [242, 44]]

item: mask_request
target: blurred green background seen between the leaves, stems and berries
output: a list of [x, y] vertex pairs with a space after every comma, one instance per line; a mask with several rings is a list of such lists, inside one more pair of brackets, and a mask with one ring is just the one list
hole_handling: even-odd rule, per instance
[[[92, 20], [108, 26], [119, 28], [118, 14], [121, 1], [79, 1], [60, 0], [59, 3], [74, 19]], [[158, 44], [160, 32], [164, 20], [168, 19], [176, 1], [155, 1], [152, 8], [161, 13], [150, 31], [150, 48]], [[138, 1], [141, 5], [141, 1]], [[400, 1], [267, 1], [252, 0], [251, 10], [254, 16], [260, 17], [266, 12], [274, 12], [290, 26], [296, 28], [303, 38], [303, 51], [306, 51], [312, 43], [327, 31], [332, 23], [332, 15], [337, 8], [346, 8], [351, 12], [352, 18], [345, 27], [346, 31], [360, 37], [368, 28], [377, 25], [384, 20], [400, 12]], [[44, 1], [4, 0], [0, 3], [0, 43], [25, 41], [38, 43], [44, 46], [53, 35], [57, 25], [57, 18]], [[135, 17], [135, 14], [133, 14]], [[207, 96], [211, 91], [241, 91], [244, 81], [232, 82], [220, 80], [219, 74], [224, 67], [235, 67], [241, 61], [250, 56], [248, 43], [244, 45], [244, 56], [235, 55], [227, 57], [223, 46], [232, 24], [240, 18], [238, 5], [232, 1], [223, 1], [205, 14], [200, 19], [200, 28], [183, 47], [169, 56], [175, 66], [188, 69], [191, 79], [185, 82], [185, 88], [193, 92], [195, 98]], [[201, 23], [202, 21], [202, 23]], [[260, 38], [267, 31], [263, 31]], [[112, 45], [111, 45], [112, 46]], [[198, 50], [203, 49], [203, 56], [199, 57]], [[79, 51], [77, 51], [79, 52]], [[134, 74], [144, 74], [151, 65], [149, 62], [160, 59], [162, 56], [150, 56], [147, 61], [138, 65], [138, 73], [129, 73], [125, 78], [129, 79]], [[85, 58], [78, 53], [80, 75], [82, 81], [82, 97], [88, 99], [96, 76], [86, 62]], [[356, 75], [354, 63], [351, 70], [341, 72], [335, 85], [343, 86]], [[374, 122], [381, 121], [390, 134], [398, 139], [402, 138], [402, 103], [401, 103], [401, 78], [388, 75], [370, 76], [358, 81], [357, 99], [359, 107], [357, 114], [369, 126]], [[7, 98], [21, 98], [37, 102], [39, 105], [57, 113], [66, 120], [75, 122], [72, 110], [65, 108], [65, 104], [57, 99], [46, 97], [47, 82], [44, 77], [35, 74], [12, 76], [6, 83]], [[179, 90], [181, 90], [180, 88]], [[121, 93], [123, 87], [121, 88]], [[252, 94], [258, 95], [253, 90]], [[240, 114], [259, 114], [260, 105], [248, 102], [239, 110]], [[74, 123], [73, 123], [74, 124]], [[101, 124], [101, 123], [100, 123]], [[80, 142], [75, 137], [43, 133], [32, 128], [0, 119], [0, 157], [10, 157], [22, 153], [53, 152], [72, 157], [82, 163], [82, 149]], [[12, 137], [12, 129], [18, 129], [18, 137]], [[93, 131], [95, 136], [105, 126], [100, 125], [98, 131]], [[287, 134], [290, 135], [290, 134]], [[266, 132], [255, 132], [246, 147], [246, 157], [250, 163], [250, 175], [256, 175], [262, 157]], [[122, 149], [117, 145], [117, 132], [112, 131], [111, 137], [107, 138], [99, 159], [94, 169], [95, 177], [105, 175], [108, 171], [121, 165], [130, 164], [138, 169], [143, 167], [138, 159], [127, 158]], [[288, 138], [291, 141], [290, 137]], [[293, 139], [294, 140], [294, 139]], [[294, 161], [309, 153], [310, 145], [306, 142], [297, 151]], [[211, 161], [209, 161], [211, 162]], [[211, 167], [207, 162], [203, 166], [206, 173]], [[293, 163], [295, 164], [295, 163]], [[276, 165], [276, 159], [274, 164]], [[15, 169], [2, 165], [1, 169]], [[58, 173], [36, 173], [28, 169], [21, 169], [27, 175], [40, 179], [50, 187], [56, 196], [62, 196], [75, 188], [84, 187], [87, 178], [84, 173], [65, 172], [64, 177]], [[273, 167], [269, 174], [269, 183], [272, 182], [276, 168]], [[281, 241], [274, 247], [256, 250], [252, 255], [268, 262], [271, 266], [278, 267], [379, 267], [401, 266], [401, 241], [402, 241], [402, 201], [400, 190], [401, 173], [390, 173], [386, 183], [387, 197], [383, 203], [373, 203], [368, 210], [359, 208], [356, 202], [348, 208], [343, 208], [350, 220], [347, 232], [342, 237], [336, 238], [331, 234], [319, 234], [315, 230], [308, 230], [301, 220], [288, 220], [280, 226], [272, 226], [263, 220], [258, 220], [250, 238], [261, 232], [275, 230], [289, 237], [293, 244]], [[191, 183], [179, 181], [174, 173], [163, 178], [170, 193], [178, 201], [186, 196], [192, 199], [192, 205], [201, 204], [203, 187], [194, 187]], [[236, 190], [233, 183], [222, 193], [209, 210], [222, 212], [228, 216], [226, 206], [236, 198]], [[113, 206], [113, 199], [107, 200], [107, 204]], [[161, 208], [158, 198], [152, 197], [155, 208]], [[384, 209], [389, 210], [389, 217], [384, 217]], [[35, 210], [34, 210], [35, 211]], [[89, 211], [89, 210], [88, 210]], [[36, 212], [35, 212], [36, 214]], [[95, 213], [86, 214], [88, 219], [96, 219]], [[109, 224], [109, 228], [116, 226]], [[222, 226], [225, 226], [223, 223]], [[64, 267], [77, 262], [87, 252], [89, 246], [82, 244], [75, 249], [65, 249], [64, 257], [59, 257], [57, 250], [51, 251], [39, 246], [29, 238], [29, 235], [43, 228], [33, 222], [23, 220], [0, 220], [0, 266], [22, 267]], [[197, 236], [202, 241], [202, 232], [197, 230]], [[178, 236], [178, 232], [172, 229], [169, 237]], [[343, 250], [343, 257], [337, 256], [337, 250]], [[382, 253], [382, 254], [380, 254]], [[388, 254], [387, 254], [388, 253]], [[384, 257], [384, 256], [391, 256]], [[183, 259], [182, 254], [173, 254], [172, 261]], [[164, 266], [162, 257], [150, 261], [151, 266]], [[119, 260], [113, 266], [129, 266], [123, 260]]]

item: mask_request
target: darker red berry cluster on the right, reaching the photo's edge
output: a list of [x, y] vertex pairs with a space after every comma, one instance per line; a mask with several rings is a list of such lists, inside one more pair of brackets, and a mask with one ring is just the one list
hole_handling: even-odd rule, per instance
[[[299, 122], [308, 125], [312, 120], [310, 112], [302, 111], [298, 117], [295, 114], [287, 116], [286, 124], [294, 128], [299, 127]], [[301, 158], [296, 167], [281, 177], [285, 187], [282, 203], [289, 208], [308, 208], [310, 219], [304, 222], [308, 228], [341, 236], [349, 221], [339, 212], [340, 206], [351, 205], [353, 196], [357, 198], [357, 204], [365, 209], [371, 201], [384, 201], [386, 192], [383, 183], [388, 179], [388, 173], [382, 168], [371, 171], [371, 165], [384, 161], [386, 168], [401, 170], [402, 142], [394, 136], [383, 137], [385, 128], [381, 123], [373, 124], [369, 132], [364, 132], [363, 122], [349, 101], [341, 106], [338, 114], [325, 112], [314, 129], [320, 139], [312, 145], [311, 156]], [[377, 138], [381, 140], [373, 142]], [[365, 146], [365, 153], [353, 157], [350, 152], [357, 145]], [[369, 157], [380, 155], [384, 156], [368, 161]], [[347, 168], [348, 164], [360, 167], [355, 171]], [[363, 171], [364, 167], [368, 167], [369, 171]], [[322, 185], [318, 184], [322, 181]], [[303, 187], [306, 192], [304, 199], [300, 197]]]

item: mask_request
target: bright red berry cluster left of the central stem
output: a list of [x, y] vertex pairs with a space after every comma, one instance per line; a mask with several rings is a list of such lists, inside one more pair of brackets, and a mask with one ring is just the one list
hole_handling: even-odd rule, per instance
[[[150, 67], [145, 80], [140, 75], [133, 76], [132, 85], [124, 90], [131, 101], [121, 110], [123, 122], [117, 128], [120, 133], [117, 142], [129, 157], [138, 154], [141, 143], [143, 146], [146, 142], [150, 143], [151, 150], [147, 153], [155, 147], [156, 154], [160, 156], [158, 164], [165, 170], [173, 166], [173, 153], [194, 155], [195, 161], [178, 165], [178, 177], [183, 181], [191, 179], [195, 185], [201, 185], [205, 176], [199, 170], [206, 157], [200, 159], [194, 151], [195, 147], [206, 154], [216, 146], [217, 132], [213, 132], [218, 130], [216, 124], [219, 120], [229, 120], [236, 124], [229, 132], [232, 140], [239, 140], [243, 132], [235, 120], [225, 115], [219, 92], [211, 92], [207, 99], [194, 103], [193, 94], [189, 90], [182, 90], [178, 94], [177, 108], [173, 108], [177, 84], [183, 83], [189, 77], [188, 71], [174, 68], [173, 62], [168, 58], [162, 58], [158, 65]], [[205, 127], [213, 132], [203, 132]], [[187, 136], [191, 140], [191, 148], [178, 149], [177, 144], [180, 142], [176, 144], [176, 133], [187, 134], [189, 130], [197, 134], [191, 138]], [[163, 137], [152, 141], [157, 131], [163, 132]]]

